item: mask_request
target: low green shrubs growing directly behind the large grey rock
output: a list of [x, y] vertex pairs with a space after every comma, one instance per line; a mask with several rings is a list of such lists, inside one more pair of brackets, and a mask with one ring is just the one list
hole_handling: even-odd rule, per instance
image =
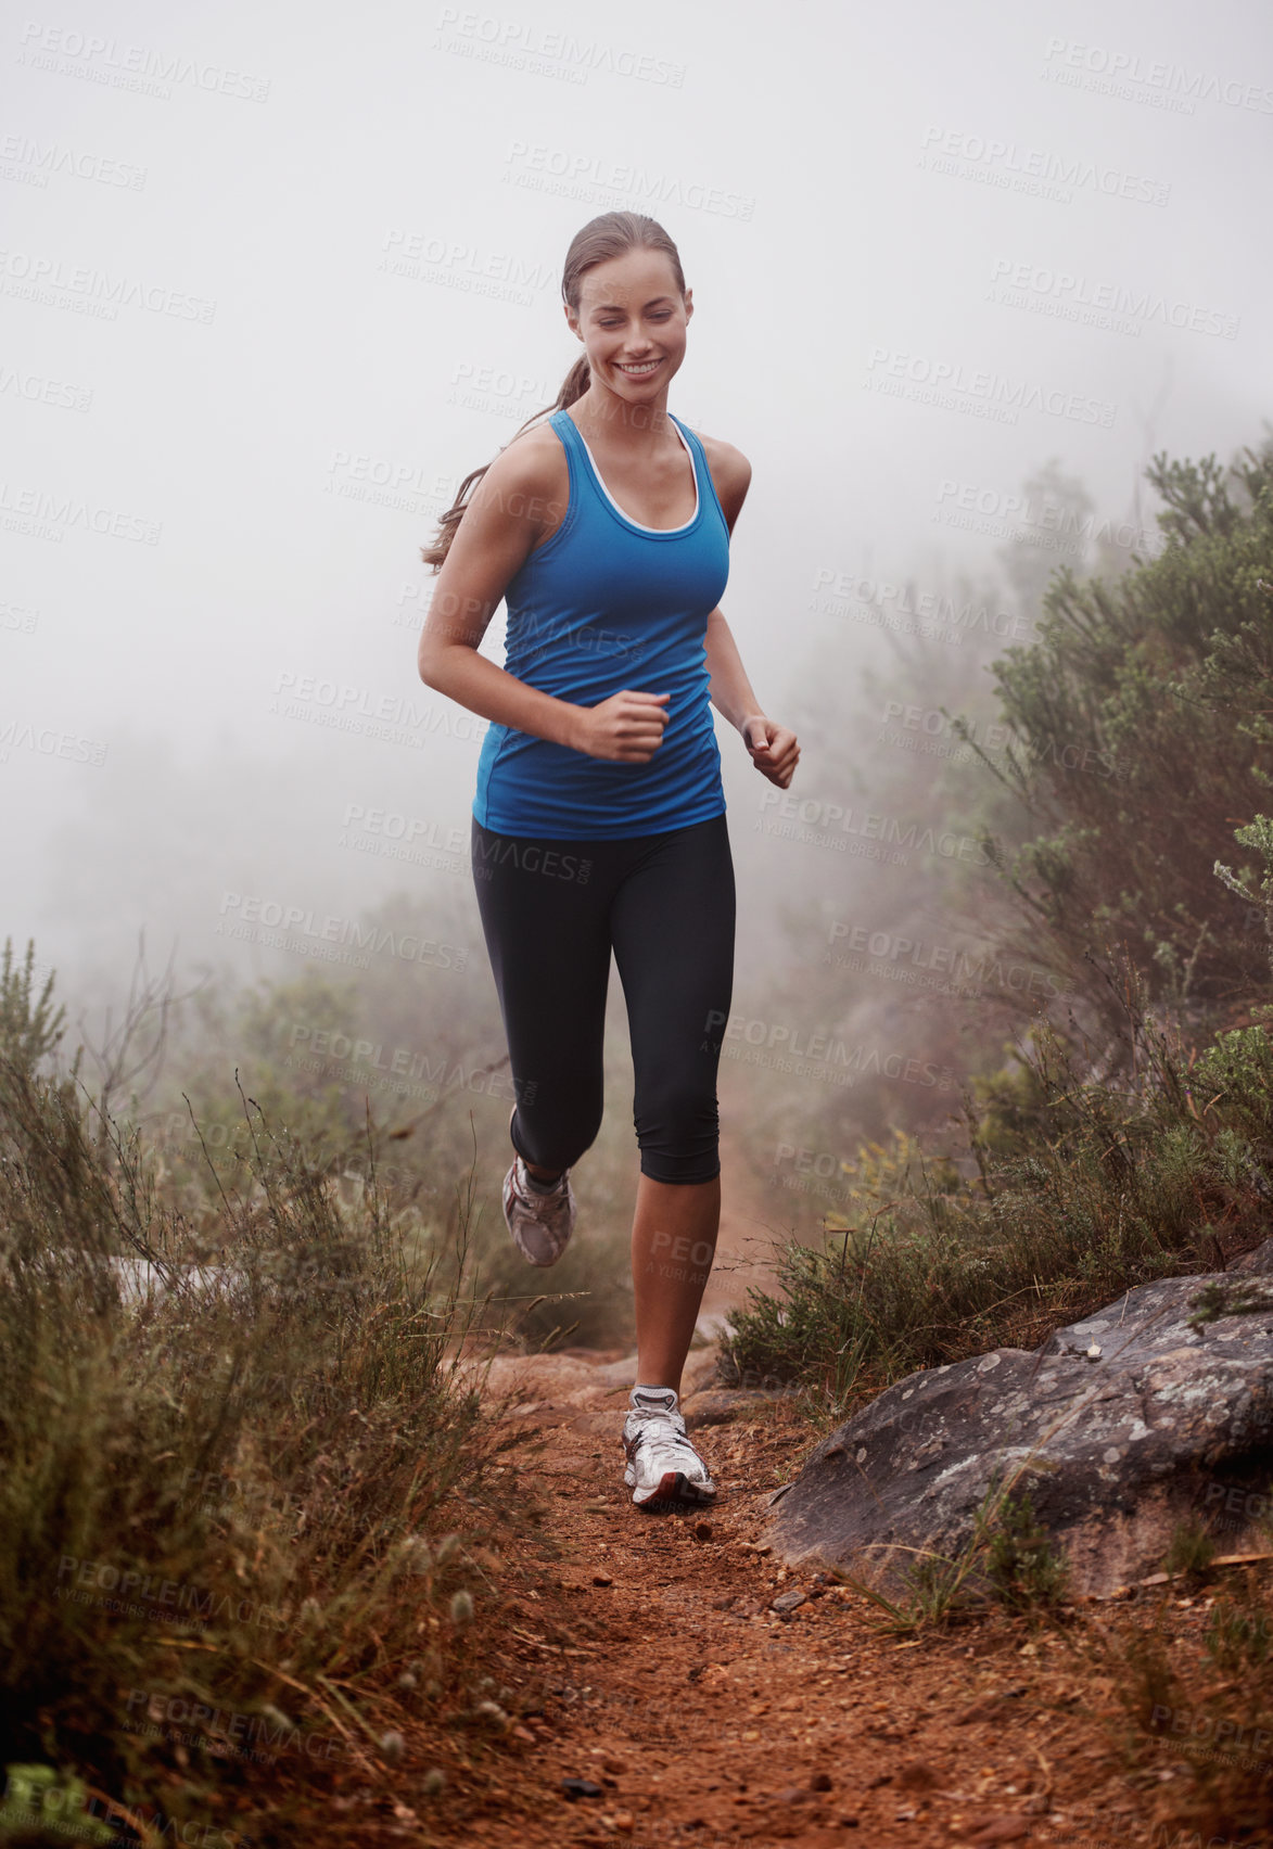
[[975, 1174], [908, 1159], [873, 1213], [822, 1246], [788, 1241], [783, 1294], [753, 1287], [733, 1316], [733, 1378], [809, 1385], [842, 1416], [916, 1368], [1036, 1346], [1119, 1291], [1266, 1235], [1273, 1043], [1251, 1028], [1190, 1061], [1134, 973], [1129, 1013], [1142, 1059], [1125, 1087], [1084, 1080], [1040, 1021], [1021, 1078], [966, 1093]]

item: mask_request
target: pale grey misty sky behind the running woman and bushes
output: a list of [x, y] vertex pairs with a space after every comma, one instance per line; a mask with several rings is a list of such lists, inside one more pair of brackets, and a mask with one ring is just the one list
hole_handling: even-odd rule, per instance
[[435, 876], [350, 815], [466, 841], [418, 545], [577, 357], [596, 213], [679, 244], [670, 409], [751, 459], [723, 608], [796, 730], [883, 658], [820, 588], [990, 569], [1051, 457], [1118, 525], [1273, 409], [1264, 0], [57, 0], [0, 76], [0, 939], [72, 986]]

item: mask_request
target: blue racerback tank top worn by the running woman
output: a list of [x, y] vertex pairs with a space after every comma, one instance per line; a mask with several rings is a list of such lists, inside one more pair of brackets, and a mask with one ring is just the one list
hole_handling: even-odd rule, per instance
[[570, 470], [566, 516], [505, 588], [503, 666], [579, 706], [624, 688], [670, 693], [648, 764], [590, 758], [490, 725], [474, 815], [498, 834], [603, 839], [662, 834], [725, 812], [707, 673], [707, 618], [729, 579], [729, 525], [703, 446], [672, 423], [694, 464], [694, 518], [642, 527], [612, 501], [574, 418], [550, 420]]

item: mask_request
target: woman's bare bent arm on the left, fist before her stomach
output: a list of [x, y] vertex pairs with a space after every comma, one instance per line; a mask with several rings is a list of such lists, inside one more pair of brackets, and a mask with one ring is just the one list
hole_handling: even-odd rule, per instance
[[646, 764], [662, 741], [666, 693], [625, 690], [599, 706], [575, 706], [529, 688], [477, 653], [507, 584], [542, 531], [564, 514], [544, 492], [546, 471], [542, 449], [522, 440], [476, 483], [433, 586], [416, 656], [420, 679], [496, 725], [592, 758]]

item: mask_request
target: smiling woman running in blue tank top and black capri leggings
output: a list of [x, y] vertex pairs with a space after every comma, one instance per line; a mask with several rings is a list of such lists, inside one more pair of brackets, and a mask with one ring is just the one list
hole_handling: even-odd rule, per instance
[[[472, 871], [516, 1098], [503, 1215], [531, 1265], [564, 1252], [570, 1170], [601, 1126], [611, 952], [624, 986], [640, 1148], [624, 1481], [662, 1509], [716, 1494], [679, 1411], [720, 1228], [735, 956], [711, 706], [783, 790], [799, 745], [760, 710], [718, 608], [751, 466], [668, 412], [694, 312], [675, 244], [603, 213], [561, 292], [583, 357], [422, 547], [439, 581], [418, 660], [490, 721]], [[501, 599], [505, 667], [477, 653]]]

